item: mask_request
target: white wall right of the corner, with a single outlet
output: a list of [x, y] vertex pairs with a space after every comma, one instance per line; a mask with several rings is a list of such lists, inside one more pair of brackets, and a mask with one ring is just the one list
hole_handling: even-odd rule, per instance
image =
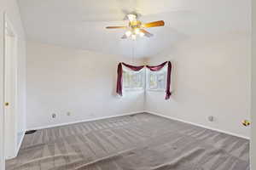
[[[148, 92], [146, 110], [183, 121], [216, 128], [244, 137], [250, 128], [241, 121], [250, 120], [249, 32], [194, 35], [148, 59], [148, 64], [171, 60], [172, 91]], [[207, 117], [214, 116], [214, 122]]]

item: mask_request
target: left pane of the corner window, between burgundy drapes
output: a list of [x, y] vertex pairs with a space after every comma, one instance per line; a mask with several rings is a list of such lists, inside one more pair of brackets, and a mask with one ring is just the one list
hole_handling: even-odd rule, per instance
[[143, 90], [145, 71], [129, 71], [123, 69], [123, 88], [124, 90]]

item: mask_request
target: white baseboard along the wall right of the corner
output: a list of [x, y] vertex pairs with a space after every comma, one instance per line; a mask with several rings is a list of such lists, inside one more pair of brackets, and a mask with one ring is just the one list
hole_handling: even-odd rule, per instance
[[224, 130], [220, 130], [220, 129], [218, 129], [218, 128], [207, 127], [207, 126], [204, 126], [204, 125], [201, 125], [201, 124], [197, 124], [197, 123], [195, 123], [195, 122], [183, 121], [183, 120], [181, 120], [181, 119], [174, 118], [174, 117], [171, 117], [171, 116], [165, 116], [165, 115], [162, 115], [162, 114], [160, 114], [160, 113], [153, 112], [153, 111], [144, 111], [144, 112], [149, 113], [149, 114], [152, 114], [152, 115], [155, 115], [155, 116], [165, 117], [165, 118], [167, 118], [167, 119], [172, 119], [172, 120], [178, 121], [178, 122], [189, 123], [189, 124], [195, 125], [195, 126], [197, 126], [197, 127], [207, 128], [207, 129], [210, 129], [210, 130], [213, 130], [213, 131], [217, 131], [217, 132], [219, 132], [219, 133], [226, 133], [226, 134], [230, 134], [230, 135], [232, 135], [232, 136], [236, 136], [236, 137], [239, 137], [239, 138], [242, 138], [242, 139], [248, 139], [248, 140], [250, 140], [250, 138], [247, 137], [247, 136], [242, 136], [242, 135], [236, 134], [236, 133], [230, 133], [230, 132], [227, 132], [227, 131], [224, 131]]

